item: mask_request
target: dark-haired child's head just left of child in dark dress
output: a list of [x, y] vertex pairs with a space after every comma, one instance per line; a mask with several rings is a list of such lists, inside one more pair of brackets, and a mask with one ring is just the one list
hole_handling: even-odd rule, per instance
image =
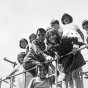
[[40, 41], [40, 42], [44, 42], [45, 40], [45, 35], [46, 35], [46, 31], [44, 28], [39, 28], [37, 30], [37, 33], [36, 33], [36, 36], [37, 36], [37, 39]]

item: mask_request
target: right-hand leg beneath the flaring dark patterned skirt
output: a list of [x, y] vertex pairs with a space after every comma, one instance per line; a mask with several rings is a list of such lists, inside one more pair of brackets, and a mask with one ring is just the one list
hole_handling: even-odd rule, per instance
[[74, 71], [72, 72], [72, 79], [73, 79], [74, 88], [78, 88], [78, 87], [79, 87], [78, 69], [77, 69], [77, 70], [74, 70]]

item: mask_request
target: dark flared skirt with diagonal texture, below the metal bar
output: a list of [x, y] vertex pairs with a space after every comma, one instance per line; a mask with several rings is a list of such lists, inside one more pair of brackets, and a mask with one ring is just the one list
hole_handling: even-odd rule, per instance
[[80, 52], [62, 58], [60, 63], [62, 64], [65, 73], [72, 72], [86, 64]]

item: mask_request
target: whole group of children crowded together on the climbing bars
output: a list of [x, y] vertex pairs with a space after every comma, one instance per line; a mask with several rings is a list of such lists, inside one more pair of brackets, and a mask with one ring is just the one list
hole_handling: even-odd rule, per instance
[[[78, 69], [86, 63], [81, 52], [77, 49], [88, 43], [88, 21], [85, 20], [82, 23], [83, 29], [86, 30], [86, 39], [78, 26], [73, 24], [72, 16], [65, 13], [61, 22], [64, 25], [63, 28], [58, 20], [52, 20], [51, 27], [47, 30], [39, 28], [36, 34], [31, 34], [29, 36], [30, 46], [26, 39], [20, 40], [20, 48], [26, 50], [25, 53], [18, 54], [20, 66], [24, 70], [35, 68], [28, 72], [31, 75], [31, 80], [27, 81], [28, 77], [25, 76], [25, 81], [21, 82], [23, 86], [18, 86], [18, 88], [52, 88], [55, 76], [52, 74], [47, 76], [47, 74], [50, 68], [55, 73], [55, 66], [52, 62], [48, 62], [48, 56], [58, 60], [57, 73], [58, 76], [62, 76], [62, 88], [68, 88], [70, 77], [73, 80], [74, 88], [78, 88]], [[70, 52], [71, 54], [67, 55]], [[17, 69], [14, 72], [16, 71]], [[25, 86], [25, 84], [27, 85]]]

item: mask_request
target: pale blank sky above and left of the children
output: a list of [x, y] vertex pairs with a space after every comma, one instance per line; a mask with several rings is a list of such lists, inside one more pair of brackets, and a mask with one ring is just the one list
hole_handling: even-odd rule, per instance
[[[12, 71], [12, 65], [4, 58], [17, 61], [21, 38], [28, 40], [38, 28], [50, 27], [52, 19], [61, 23], [64, 13], [72, 15], [82, 30], [82, 21], [88, 19], [87, 10], [88, 0], [0, 0], [0, 77], [5, 78]], [[2, 88], [7, 86], [2, 84]]]

